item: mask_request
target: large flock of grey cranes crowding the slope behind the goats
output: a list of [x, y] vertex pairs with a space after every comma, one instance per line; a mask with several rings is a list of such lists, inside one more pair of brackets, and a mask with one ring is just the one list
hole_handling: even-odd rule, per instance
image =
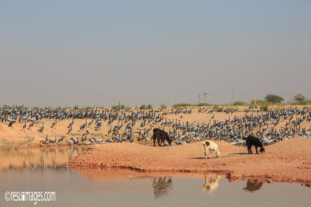
[[[203, 139], [214, 139], [225, 142], [230, 142], [232, 145], [244, 146], [245, 140], [243, 138], [248, 135], [255, 135], [260, 138], [264, 145], [269, 145], [274, 142], [294, 138], [294, 137], [310, 137], [311, 127], [302, 128], [302, 123], [309, 123], [311, 121], [311, 107], [298, 109], [297, 107], [283, 107], [280, 110], [276, 108], [270, 109], [267, 112], [261, 109], [249, 109], [245, 108], [245, 115], [231, 115], [239, 111], [238, 107], [227, 108], [226, 114], [228, 118], [225, 120], [215, 120], [214, 115], [218, 113], [214, 108], [199, 108], [198, 112], [211, 113], [211, 118], [208, 121], [202, 123], [190, 123], [182, 122], [185, 114], [192, 113], [191, 108], [185, 107], [179, 108], [159, 108], [151, 110], [139, 110], [137, 108], [126, 109], [109, 109], [105, 107], [93, 107], [89, 109], [64, 109], [64, 108], [24, 108], [23, 106], [13, 106], [8, 108], [3, 106], [0, 109], [0, 121], [7, 123], [9, 127], [14, 128], [16, 122], [23, 124], [23, 130], [26, 131], [27, 122], [29, 124], [29, 130], [36, 124], [39, 125], [38, 132], [43, 133], [45, 128], [45, 122], [48, 119], [52, 119], [53, 123], [50, 128], [56, 129], [59, 121], [71, 120], [68, 125], [68, 135], [72, 132], [72, 126], [75, 124], [76, 119], [85, 119], [85, 122], [81, 124], [80, 132], [86, 130], [86, 128], [92, 128], [95, 122], [95, 128], [100, 131], [102, 124], [108, 124], [110, 129], [107, 134], [108, 139], [92, 137], [88, 138], [89, 131], [86, 130], [82, 134], [82, 137], [72, 137], [70, 140], [66, 140], [69, 145], [90, 145], [100, 144], [102, 142], [144, 142], [150, 144], [148, 134], [152, 131], [152, 128], [163, 128], [169, 137], [174, 140], [171, 145], [184, 145], [189, 144], [191, 141], [202, 141]], [[172, 120], [168, 118], [176, 117]], [[87, 121], [89, 119], [89, 122]], [[284, 127], [278, 127], [280, 122], [286, 122]], [[114, 124], [115, 123], [115, 124]], [[134, 133], [138, 136], [134, 138]], [[151, 140], [152, 140], [151, 136]], [[58, 142], [62, 142], [64, 136], [58, 139]], [[29, 139], [33, 141], [34, 137]], [[49, 141], [49, 142], [48, 142]], [[55, 139], [50, 139], [46, 135], [45, 139], [40, 143], [55, 144]], [[165, 145], [169, 145], [165, 143]]]

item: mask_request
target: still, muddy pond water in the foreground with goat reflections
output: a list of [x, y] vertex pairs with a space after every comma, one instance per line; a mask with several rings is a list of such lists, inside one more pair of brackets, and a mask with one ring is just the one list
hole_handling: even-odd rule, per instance
[[[86, 146], [0, 151], [0, 206], [310, 206], [297, 183], [230, 183], [225, 176], [68, 167]], [[133, 179], [128, 176], [141, 176]], [[116, 178], [117, 177], [117, 178]], [[7, 191], [55, 191], [56, 201], [6, 201]]]

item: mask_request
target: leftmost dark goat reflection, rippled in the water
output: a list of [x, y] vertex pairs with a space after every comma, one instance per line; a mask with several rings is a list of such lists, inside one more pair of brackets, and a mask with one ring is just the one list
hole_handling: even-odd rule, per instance
[[155, 198], [163, 198], [169, 194], [169, 191], [173, 190], [173, 180], [169, 177], [156, 178], [152, 181], [153, 193]]

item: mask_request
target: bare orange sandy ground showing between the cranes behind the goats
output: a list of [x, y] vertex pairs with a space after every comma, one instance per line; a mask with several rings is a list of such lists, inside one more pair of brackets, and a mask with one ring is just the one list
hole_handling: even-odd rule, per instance
[[[285, 108], [288, 108], [290, 106], [285, 106]], [[295, 106], [291, 106], [291, 107], [294, 107]], [[301, 109], [303, 106], [297, 106], [299, 109]], [[207, 113], [202, 111], [201, 113], [198, 113], [198, 108], [199, 107], [192, 107], [192, 114], [178, 114], [178, 115], [167, 115], [167, 116], [164, 116], [164, 118], [166, 118], [167, 120], [173, 120], [174, 119], [174, 122], [175, 120], [177, 119], [177, 121], [180, 120], [180, 123], [181, 124], [186, 124], [186, 122], [188, 121], [189, 124], [194, 124], [194, 125], [197, 125], [198, 123], [201, 124], [201, 123], [209, 123], [209, 122], [213, 122], [213, 120], [225, 120], [225, 119], [229, 119], [230, 117], [230, 120], [232, 118], [234, 118], [234, 116], [239, 116], [239, 117], [243, 117], [245, 115], [244, 113], [244, 108], [245, 106], [239, 106], [239, 110], [241, 112], [235, 112], [233, 114], [225, 114], [225, 112], [215, 112], [213, 114], [211, 113]], [[203, 108], [203, 107], [202, 107]], [[224, 107], [225, 109], [226, 107]], [[271, 106], [269, 106], [269, 108], [271, 108]], [[281, 109], [282, 107], [281, 106], [276, 106], [276, 109]], [[154, 109], [158, 109], [158, 108], [154, 108]], [[171, 108], [167, 108], [166, 110], [171, 110]], [[148, 111], [148, 110], [146, 110]], [[165, 110], [162, 110], [160, 112], [160, 115], [164, 112]], [[265, 112], [263, 112], [265, 113]], [[248, 115], [250, 115], [251, 113], [248, 113]], [[183, 118], [180, 119], [180, 116], [183, 115]], [[214, 119], [211, 119], [211, 117], [214, 115]], [[254, 115], [257, 115], [257, 112], [254, 113]], [[294, 117], [295, 119], [296, 117]], [[41, 124], [37, 124], [36, 126], [34, 126], [33, 128], [28, 128], [29, 127], [29, 124], [30, 122], [27, 122], [26, 125], [26, 130], [24, 132], [23, 130], [23, 125], [24, 123], [15, 123], [14, 124], [14, 128], [12, 127], [9, 127], [8, 126], [8, 122], [4, 122], [4, 123], [0, 123], [0, 149], [15, 149], [16, 147], [18, 148], [26, 148], [26, 147], [31, 147], [31, 146], [43, 146], [42, 144], [39, 143], [40, 140], [43, 140], [45, 138], [46, 135], [49, 135], [49, 138], [50, 139], [55, 139], [55, 136], [57, 136], [57, 140], [58, 138], [64, 136], [64, 141], [63, 143], [59, 143], [59, 144], [63, 144], [63, 145], [67, 145], [67, 142], [66, 140], [70, 140], [71, 137], [80, 137], [80, 140], [81, 140], [81, 136], [82, 134], [88, 130], [90, 132], [90, 134], [88, 135], [88, 139], [91, 138], [91, 137], [97, 137], [97, 138], [101, 138], [101, 136], [103, 135], [104, 136], [104, 140], [106, 140], [108, 137], [111, 137], [111, 133], [110, 135], [108, 135], [108, 130], [110, 128], [110, 126], [108, 125], [108, 120], [107, 121], [104, 121], [102, 120], [102, 123], [103, 125], [101, 126], [100, 130], [96, 128], [96, 125], [95, 125], [95, 121], [93, 121], [93, 124], [92, 124], [92, 128], [91, 126], [90, 127], [86, 127], [85, 130], [83, 131], [80, 131], [80, 126], [85, 123], [85, 119], [75, 119], [74, 120], [74, 124], [72, 126], [72, 131], [71, 133], [67, 134], [68, 132], [68, 126], [69, 126], [69, 123], [72, 121], [72, 120], [63, 120], [63, 121], [58, 121], [55, 128], [51, 128], [51, 125], [53, 123], [54, 120], [52, 119], [42, 119], [42, 122], [45, 122], [45, 128], [44, 128], [44, 131], [43, 133], [40, 133], [38, 131], [38, 129], [40, 128]], [[87, 124], [91, 121], [91, 119], [87, 119]], [[133, 127], [133, 131], [134, 132], [138, 132], [139, 130], [136, 130], [138, 127], [140, 127], [140, 124], [141, 124], [142, 121], [137, 121], [136, 122], [136, 125]], [[285, 126], [285, 123], [287, 122], [284, 121], [283, 119], [280, 119], [280, 122], [279, 124], [276, 126], [276, 130], [279, 130], [281, 129], [281, 127], [284, 127]], [[114, 125], [116, 125], [118, 123], [117, 120], [115, 120], [111, 126], [114, 127]], [[121, 122], [119, 122], [120, 124]], [[124, 124], [124, 123], [123, 123]], [[149, 128], [149, 124], [146, 123], [145, 125], [145, 128]], [[300, 127], [301, 128], [306, 128], [306, 129], [309, 129], [311, 126], [311, 123], [307, 123], [306, 121], [304, 121], [303, 123], [300, 124]], [[152, 128], [157, 128], [157, 127], [160, 127], [161, 129], [163, 127], [160, 126], [160, 124], [158, 125], [155, 125], [155, 126], [152, 126]], [[268, 130], [272, 127], [272, 125], [269, 125], [269, 128]], [[288, 125], [288, 127], [293, 127], [292, 124]], [[121, 129], [121, 131], [123, 132], [125, 129], [125, 126], [123, 126], [123, 128]], [[169, 129], [171, 128], [168, 128], [167, 126], [165, 126], [165, 131], [169, 131]], [[32, 130], [32, 131], [31, 131]], [[151, 130], [152, 131], [152, 130]], [[254, 132], [256, 132], [256, 130], [254, 130]], [[143, 132], [143, 131], [142, 131]], [[152, 132], [151, 132], [152, 133]], [[148, 138], [149, 140], [151, 140], [151, 135], [152, 134], [149, 134], [148, 135]], [[27, 142], [28, 139], [30, 139], [31, 137], [35, 137], [34, 140], [32, 142]], [[135, 142], [137, 142], [137, 137], [138, 137], [138, 133], [134, 133], [134, 136], [136, 138]], [[297, 134], [295, 135], [295, 137], [297, 137]], [[21, 145], [23, 144], [23, 145]], [[45, 145], [46, 146], [46, 145]]]

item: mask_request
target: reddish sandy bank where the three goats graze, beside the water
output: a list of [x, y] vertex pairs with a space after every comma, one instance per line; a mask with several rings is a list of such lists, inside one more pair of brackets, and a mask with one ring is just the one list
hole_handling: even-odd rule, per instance
[[247, 154], [247, 148], [216, 141], [220, 158], [205, 159], [200, 142], [188, 145], [152, 147], [137, 143], [94, 145], [67, 164], [129, 168], [141, 171], [226, 174], [234, 181], [251, 178], [264, 182], [311, 184], [311, 139], [295, 138], [266, 146], [266, 153]]

